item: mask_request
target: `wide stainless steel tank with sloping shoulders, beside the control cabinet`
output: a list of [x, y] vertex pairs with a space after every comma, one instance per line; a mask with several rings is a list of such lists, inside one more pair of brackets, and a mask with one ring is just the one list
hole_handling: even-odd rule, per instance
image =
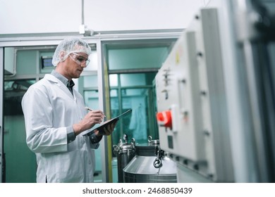
[[177, 182], [176, 163], [149, 136], [148, 144], [135, 144], [135, 157], [123, 169], [126, 183]]

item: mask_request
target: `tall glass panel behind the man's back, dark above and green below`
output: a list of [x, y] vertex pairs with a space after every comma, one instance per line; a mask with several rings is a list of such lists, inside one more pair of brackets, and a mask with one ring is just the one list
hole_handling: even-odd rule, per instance
[[36, 158], [25, 142], [25, 122], [21, 107], [25, 91], [34, 83], [35, 80], [4, 82], [4, 151], [8, 183], [36, 182]]

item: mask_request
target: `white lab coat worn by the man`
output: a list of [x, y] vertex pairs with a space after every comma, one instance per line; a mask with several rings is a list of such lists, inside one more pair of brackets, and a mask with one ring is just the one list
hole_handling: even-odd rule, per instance
[[26, 142], [37, 156], [37, 182], [93, 182], [95, 144], [81, 134], [67, 144], [66, 127], [87, 113], [82, 96], [73, 95], [53, 75], [30, 86], [22, 100]]

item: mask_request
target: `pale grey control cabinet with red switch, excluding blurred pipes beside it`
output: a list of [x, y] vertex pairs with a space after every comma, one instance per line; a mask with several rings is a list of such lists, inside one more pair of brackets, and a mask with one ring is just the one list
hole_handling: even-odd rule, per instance
[[217, 11], [204, 8], [157, 74], [157, 118], [161, 148], [176, 156], [178, 167], [202, 174], [203, 182], [232, 182], [230, 147], [224, 141], [228, 123], [221, 115], [226, 113], [226, 101], [217, 37]]

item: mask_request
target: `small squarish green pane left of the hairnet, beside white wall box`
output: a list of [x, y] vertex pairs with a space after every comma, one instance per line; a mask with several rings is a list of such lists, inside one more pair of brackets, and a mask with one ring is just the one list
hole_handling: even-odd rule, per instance
[[37, 51], [17, 51], [16, 73], [17, 75], [35, 75], [37, 73]]

